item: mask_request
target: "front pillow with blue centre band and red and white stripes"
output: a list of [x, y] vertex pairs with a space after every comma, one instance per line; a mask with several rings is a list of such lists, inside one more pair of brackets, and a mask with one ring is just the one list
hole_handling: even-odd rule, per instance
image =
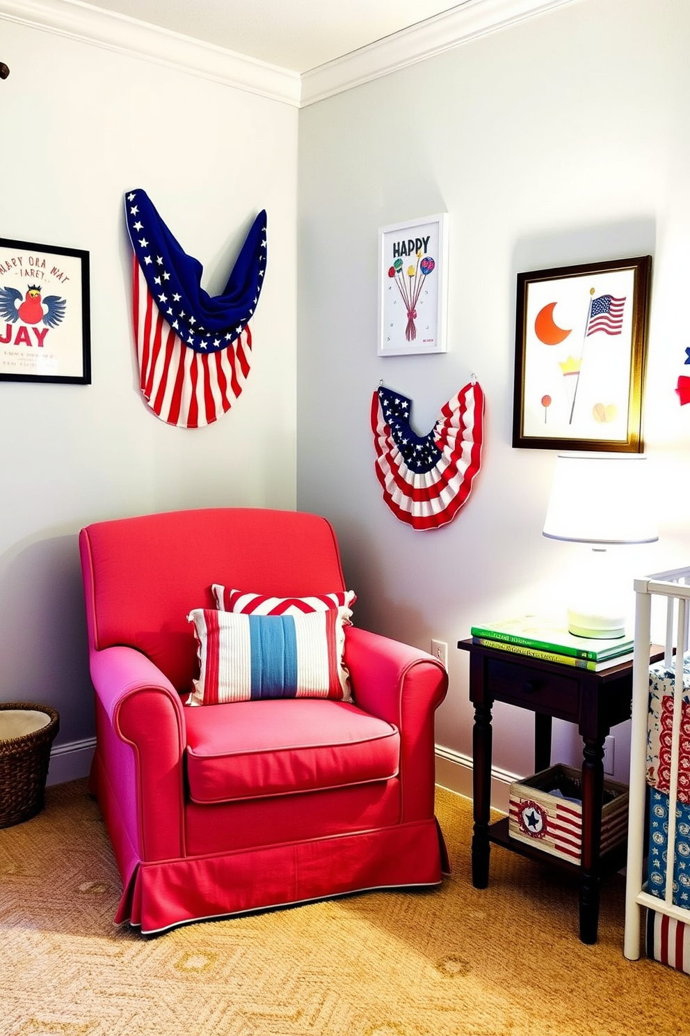
[[342, 665], [348, 608], [298, 615], [246, 615], [196, 608], [200, 661], [190, 706], [261, 698], [351, 701]]

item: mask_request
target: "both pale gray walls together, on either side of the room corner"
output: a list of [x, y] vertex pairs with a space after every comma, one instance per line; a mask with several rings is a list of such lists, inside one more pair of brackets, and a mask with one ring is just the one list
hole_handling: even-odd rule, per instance
[[[288, 105], [9, 21], [1, 37], [11, 75], [0, 84], [0, 234], [91, 255], [93, 384], [0, 382], [0, 699], [56, 706], [59, 745], [93, 732], [79, 528], [297, 500], [333, 519], [361, 625], [449, 643], [437, 736], [471, 753], [455, 641], [477, 618], [558, 599], [580, 556], [540, 535], [552, 454], [510, 447], [519, 270], [654, 256], [646, 438], [662, 539], [629, 564], [687, 563], [690, 407], [673, 393], [690, 345], [685, 0], [627, 0], [625, 18], [618, 0], [578, 0], [304, 109], [299, 140]], [[136, 185], [202, 260], [211, 291], [253, 213], [269, 213], [251, 374], [209, 429], [168, 428], [138, 395], [121, 215]], [[450, 351], [378, 358], [378, 228], [439, 210], [450, 222]], [[410, 395], [426, 431], [472, 372], [487, 400], [482, 470], [450, 526], [414, 533], [373, 474], [371, 394], [384, 379]], [[494, 760], [528, 773], [529, 717], [505, 712]], [[560, 757], [576, 752], [557, 732]]]

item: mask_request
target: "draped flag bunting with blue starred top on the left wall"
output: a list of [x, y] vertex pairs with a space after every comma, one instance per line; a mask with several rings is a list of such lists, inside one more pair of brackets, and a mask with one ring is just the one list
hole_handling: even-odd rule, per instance
[[183, 252], [145, 191], [128, 192], [125, 217], [142, 395], [167, 424], [210, 425], [230, 409], [249, 374], [249, 319], [266, 271], [266, 212], [253, 221], [217, 296], [201, 287], [201, 263]]

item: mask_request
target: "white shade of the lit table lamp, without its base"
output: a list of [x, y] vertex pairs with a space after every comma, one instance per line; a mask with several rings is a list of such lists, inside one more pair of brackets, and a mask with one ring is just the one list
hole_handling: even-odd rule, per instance
[[578, 543], [659, 539], [643, 454], [559, 454], [544, 536]]

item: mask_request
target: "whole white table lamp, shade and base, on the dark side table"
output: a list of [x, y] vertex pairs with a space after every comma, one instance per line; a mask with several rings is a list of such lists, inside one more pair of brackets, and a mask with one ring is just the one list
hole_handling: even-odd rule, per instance
[[603, 564], [611, 544], [659, 539], [643, 454], [559, 454], [543, 535], [589, 543], [595, 564], [568, 602], [568, 630], [597, 639], [622, 637], [626, 607]]

